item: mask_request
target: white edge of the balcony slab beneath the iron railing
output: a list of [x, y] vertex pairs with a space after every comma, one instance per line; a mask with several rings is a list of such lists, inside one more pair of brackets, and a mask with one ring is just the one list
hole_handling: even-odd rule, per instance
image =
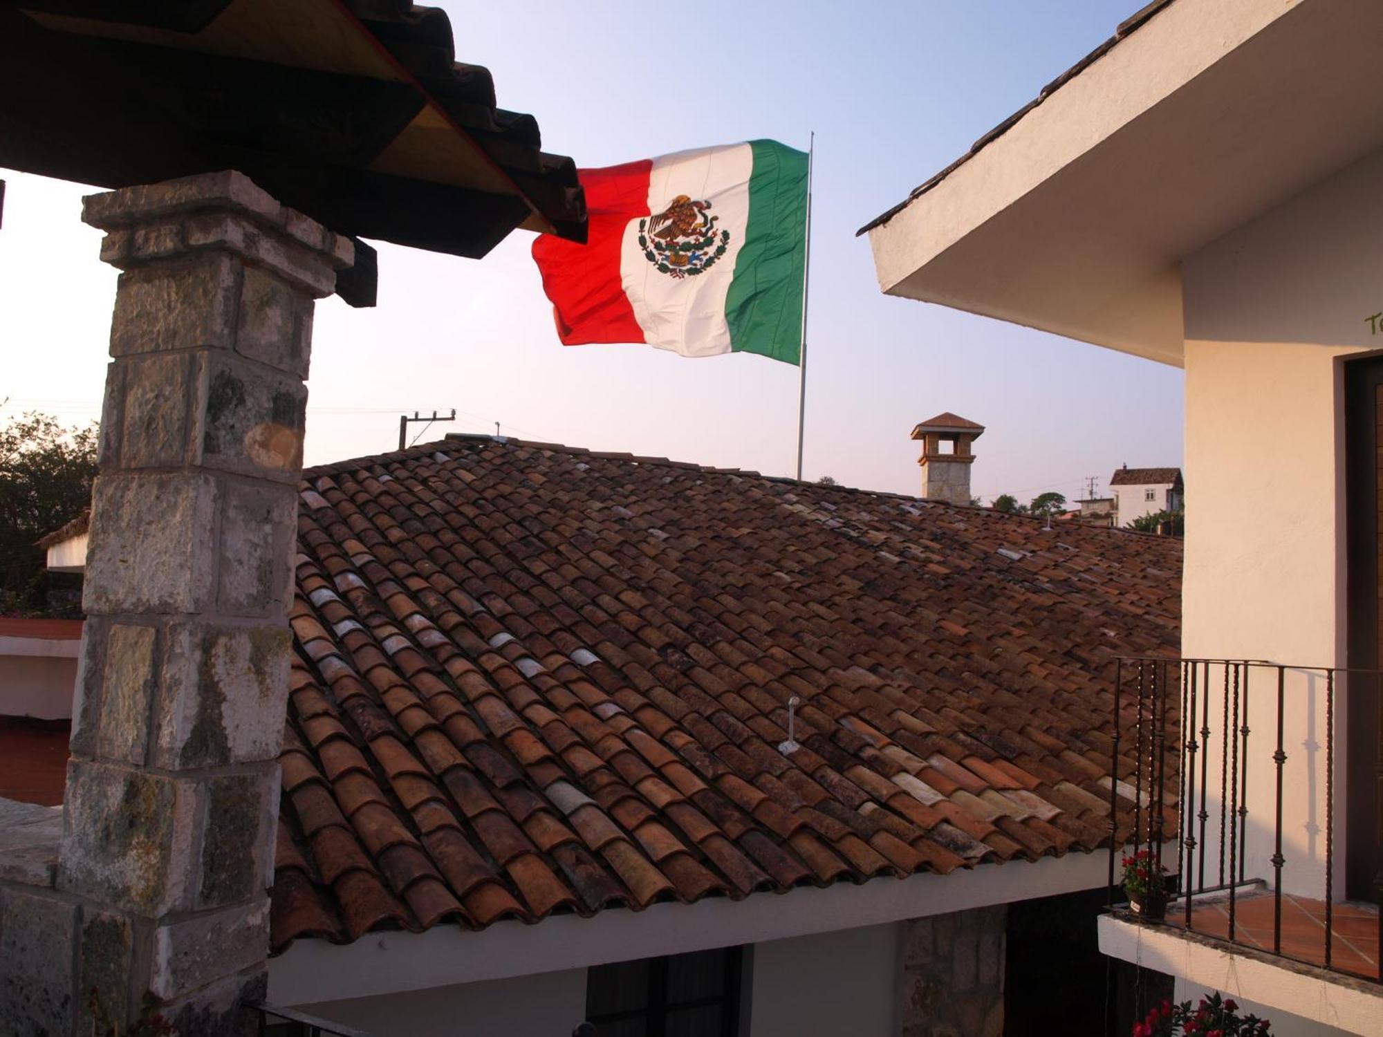
[[[1383, 1033], [1383, 986], [1267, 961], [1260, 954], [1169, 926], [1140, 925], [1115, 915], [1101, 915], [1098, 925], [1101, 953], [1176, 976], [1178, 990], [1218, 990], [1225, 997], [1294, 1016], [1281, 1020], [1282, 1033], [1288, 1027], [1293, 1034]], [[1311, 1023], [1333, 1029], [1312, 1029]], [[1278, 1031], [1275, 1026], [1274, 1033]]]

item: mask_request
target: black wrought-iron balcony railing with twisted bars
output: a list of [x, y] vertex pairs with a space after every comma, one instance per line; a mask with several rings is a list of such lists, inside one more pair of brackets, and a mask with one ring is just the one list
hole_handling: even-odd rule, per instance
[[[1254, 660], [1120, 660], [1111, 906], [1119, 837], [1131, 831], [1135, 853], [1147, 849], [1155, 867], [1174, 872], [1166, 924], [1383, 982], [1383, 872], [1373, 879], [1373, 904], [1337, 896], [1340, 700], [1379, 694], [1379, 676]], [[1383, 744], [1383, 731], [1375, 734]], [[1376, 825], [1350, 835], [1383, 841]], [[1164, 860], [1169, 852], [1176, 861]]]

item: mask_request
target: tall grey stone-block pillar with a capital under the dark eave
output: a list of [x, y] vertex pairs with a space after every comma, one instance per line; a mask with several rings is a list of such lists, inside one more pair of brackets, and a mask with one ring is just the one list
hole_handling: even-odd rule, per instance
[[181, 1034], [253, 1033], [313, 300], [351, 245], [231, 171], [83, 218], [123, 272], [54, 901], [71, 1029], [91, 1033], [94, 990], [112, 1022], [152, 998]]

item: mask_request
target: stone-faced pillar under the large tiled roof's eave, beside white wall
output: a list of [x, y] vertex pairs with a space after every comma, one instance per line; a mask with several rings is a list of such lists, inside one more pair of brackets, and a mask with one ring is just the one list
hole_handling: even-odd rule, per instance
[[914, 918], [903, 931], [902, 1037], [1000, 1037], [1008, 908]]

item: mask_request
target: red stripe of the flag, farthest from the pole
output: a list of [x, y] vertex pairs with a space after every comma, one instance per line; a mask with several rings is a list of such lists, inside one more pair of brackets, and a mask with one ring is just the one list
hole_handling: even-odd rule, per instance
[[541, 234], [532, 257], [552, 300], [564, 346], [643, 342], [633, 307], [620, 283], [620, 243], [629, 220], [649, 214], [651, 159], [578, 171], [591, 225], [586, 243]]

